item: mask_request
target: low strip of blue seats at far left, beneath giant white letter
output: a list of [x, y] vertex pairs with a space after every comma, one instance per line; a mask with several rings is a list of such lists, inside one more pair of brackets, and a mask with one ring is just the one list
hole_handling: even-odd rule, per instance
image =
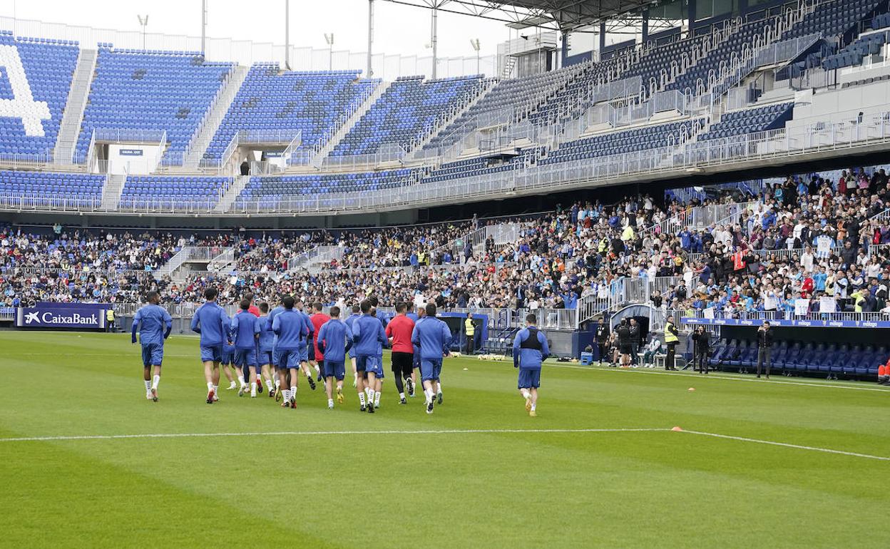
[[104, 175], [0, 171], [3, 198], [101, 198]]

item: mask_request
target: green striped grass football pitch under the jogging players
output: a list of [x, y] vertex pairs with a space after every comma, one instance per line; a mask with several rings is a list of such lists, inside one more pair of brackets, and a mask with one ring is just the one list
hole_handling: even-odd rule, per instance
[[[295, 410], [171, 337], [0, 332], [0, 546], [887, 547], [890, 389], [446, 359], [444, 403]], [[694, 391], [690, 391], [694, 388]], [[683, 431], [672, 431], [680, 427]]]

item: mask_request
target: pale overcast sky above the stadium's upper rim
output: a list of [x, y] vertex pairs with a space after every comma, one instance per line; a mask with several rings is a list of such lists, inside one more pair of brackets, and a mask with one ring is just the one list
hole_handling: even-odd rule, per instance
[[[284, 44], [284, 0], [208, 0], [207, 36]], [[374, 51], [428, 56], [430, 11], [377, 0]], [[0, 0], [0, 15], [94, 28], [140, 30], [137, 14], [148, 13], [149, 32], [200, 36], [201, 0]], [[327, 48], [324, 33], [334, 33], [335, 50], [366, 52], [368, 0], [291, 0], [290, 41]], [[440, 13], [439, 55], [473, 57], [470, 40], [479, 38], [481, 54], [497, 51], [509, 37], [504, 23]]]

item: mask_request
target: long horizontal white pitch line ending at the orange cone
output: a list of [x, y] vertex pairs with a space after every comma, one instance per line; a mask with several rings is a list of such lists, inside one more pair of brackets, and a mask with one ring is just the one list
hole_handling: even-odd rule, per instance
[[115, 439], [180, 439], [190, 437], [267, 437], [315, 436], [344, 434], [478, 434], [522, 432], [667, 432], [667, 427], [628, 429], [418, 429], [415, 431], [278, 431], [278, 432], [157, 432], [145, 434], [92, 434], [49, 437], [0, 438], [0, 442], [32, 442], [45, 440], [115, 440]]

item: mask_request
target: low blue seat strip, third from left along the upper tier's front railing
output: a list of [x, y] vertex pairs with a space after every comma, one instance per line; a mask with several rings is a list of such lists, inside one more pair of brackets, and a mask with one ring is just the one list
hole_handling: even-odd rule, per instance
[[285, 175], [251, 177], [235, 199], [236, 207], [274, 207], [288, 198], [301, 198], [342, 192], [373, 192], [401, 187], [409, 182], [415, 170], [330, 175]]

